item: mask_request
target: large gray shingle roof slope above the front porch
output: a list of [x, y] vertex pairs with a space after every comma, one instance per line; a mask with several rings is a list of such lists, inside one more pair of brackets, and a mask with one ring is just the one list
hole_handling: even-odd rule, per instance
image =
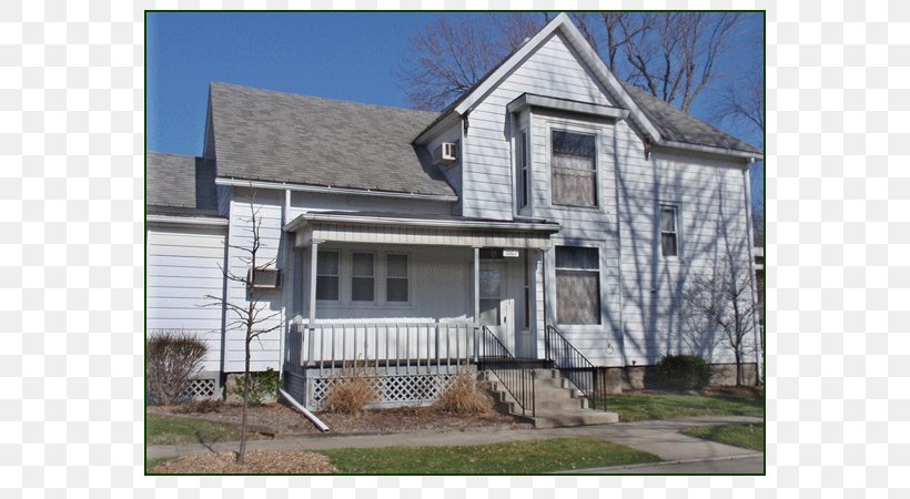
[[436, 113], [211, 85], [218, 175], [455, 195], [412, 141]]

